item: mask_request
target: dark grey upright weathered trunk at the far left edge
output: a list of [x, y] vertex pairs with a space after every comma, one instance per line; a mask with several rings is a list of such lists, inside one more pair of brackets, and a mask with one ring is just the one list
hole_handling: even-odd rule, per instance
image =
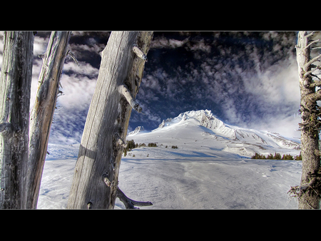
[[4, 32], [0, 76], [0, 208], [25, 207], [33, 32]]

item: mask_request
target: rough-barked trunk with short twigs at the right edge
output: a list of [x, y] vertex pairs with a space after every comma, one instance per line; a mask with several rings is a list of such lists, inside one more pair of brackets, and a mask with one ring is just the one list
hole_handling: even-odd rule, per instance
[[[317, 101], [320, 100], [319, 91], [315, 92], [316, 81], [312, 81], [311, 68], [317, 66], [312, 65], [317, 58], [310, 58], [310, 46], [308, 37], [311, 34], [306, 34], [305, 31], [300, 31], [297, 40], [297, 66], [300, 76], [300, 94], [301, 103], [300, 111], [302, 123], [301, 127], [301, 149], [302, 149], [302, 176], [301, 176], [301, 191], [299, 195], [299, 209], [320, 208], [319, 195], [313, 190], [307, 190], [310, 185], [312, 176], [318, 173], [320, 168], [319, 153], [319, 132], [320, 132], [320, 111], [317, 106]], [[312, 186], [311, 186], [312, 187]]]

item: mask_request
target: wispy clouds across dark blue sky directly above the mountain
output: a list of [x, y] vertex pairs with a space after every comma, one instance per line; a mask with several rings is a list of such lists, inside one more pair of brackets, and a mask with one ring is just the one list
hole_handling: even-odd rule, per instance
[[[189, 108], [210, 108], [234, 125], [300, 135], [295, 132], [300, 120], [292, 118], [300, 108], [294, 33], [215, 33], [196, 39], [186, 37], [176, 47], [163, 36], [152, 43], [149, 58], [160, 59], [146, 64], [138, 93], [151, 113], [167, 118]], [[170, 52], [174, 47], [185, 52]], [[185, 58], [188, 53], [193, 58]]]

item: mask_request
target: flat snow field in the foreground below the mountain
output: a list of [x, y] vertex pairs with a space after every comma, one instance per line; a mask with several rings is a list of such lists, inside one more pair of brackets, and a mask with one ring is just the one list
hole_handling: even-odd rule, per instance
[[[156, 148], [149, 149], [153, 155]], [[39, 209], [66, 208], [75, 164], [46, 160]], [[141, 209], [295, 209], [286, 193], [300, 183], [301, 168], [295, 160], [128, 157], [121, 162], [119, 187], [133, 200], [153, 202]], [[124, 205], [117, 199], [115, 208]]]

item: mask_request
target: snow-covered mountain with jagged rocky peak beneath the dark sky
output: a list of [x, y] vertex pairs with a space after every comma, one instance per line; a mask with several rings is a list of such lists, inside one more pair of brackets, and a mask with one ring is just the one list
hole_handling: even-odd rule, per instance
[[227, 125], [211, 111], [187, 111], [168, 118], [151, 132], [136, 128], [128, 135], [136, 143], [158, 143], [158, 146], [178, 145], [180, 150], [215, 150], [250, 157], [255, 153], [290, 153], [299, 155], [300, 143], [270, 131]]

